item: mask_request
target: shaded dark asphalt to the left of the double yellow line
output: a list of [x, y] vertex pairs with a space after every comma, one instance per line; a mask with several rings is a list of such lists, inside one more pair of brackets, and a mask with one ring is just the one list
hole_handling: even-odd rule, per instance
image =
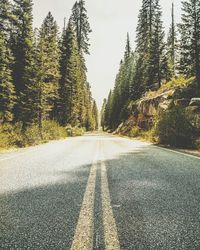
[[0, 249], [70, 249], [91, 165], [0, 196]]

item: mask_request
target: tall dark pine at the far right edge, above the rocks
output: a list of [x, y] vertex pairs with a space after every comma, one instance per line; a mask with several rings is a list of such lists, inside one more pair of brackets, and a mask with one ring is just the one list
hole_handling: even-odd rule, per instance
[[200, 89], [200, 0], [183, 1], [182, 10], [180, 73], [195, 75]]

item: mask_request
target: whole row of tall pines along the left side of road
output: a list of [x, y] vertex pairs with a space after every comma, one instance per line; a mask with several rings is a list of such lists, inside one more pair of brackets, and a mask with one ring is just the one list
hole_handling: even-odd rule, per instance
[[33, 30], [32, 0], [0, 2], [0, 125], [22, 131], [43, 124], [95, 130], [97, 106], [87, 81], [85, 55], [91, 32], [79, 0], [62, 34], [49, 12]]

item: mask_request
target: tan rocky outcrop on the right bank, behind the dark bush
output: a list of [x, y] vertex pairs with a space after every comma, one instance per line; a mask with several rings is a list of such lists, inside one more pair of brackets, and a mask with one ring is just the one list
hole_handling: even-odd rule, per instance
[[142, 130], [149, 130], [159, 113], [167, 110], [171, 105], [184, 108], [193, 126], [200, 129], [200, 98], [194, 98], [194, 93], [196, 93], [194, 81], [163, 92], [146, 93], [143, 98], [130, 105], [131, 115], [119, 126], [117, 133], [128, 134], [135, 126]]

